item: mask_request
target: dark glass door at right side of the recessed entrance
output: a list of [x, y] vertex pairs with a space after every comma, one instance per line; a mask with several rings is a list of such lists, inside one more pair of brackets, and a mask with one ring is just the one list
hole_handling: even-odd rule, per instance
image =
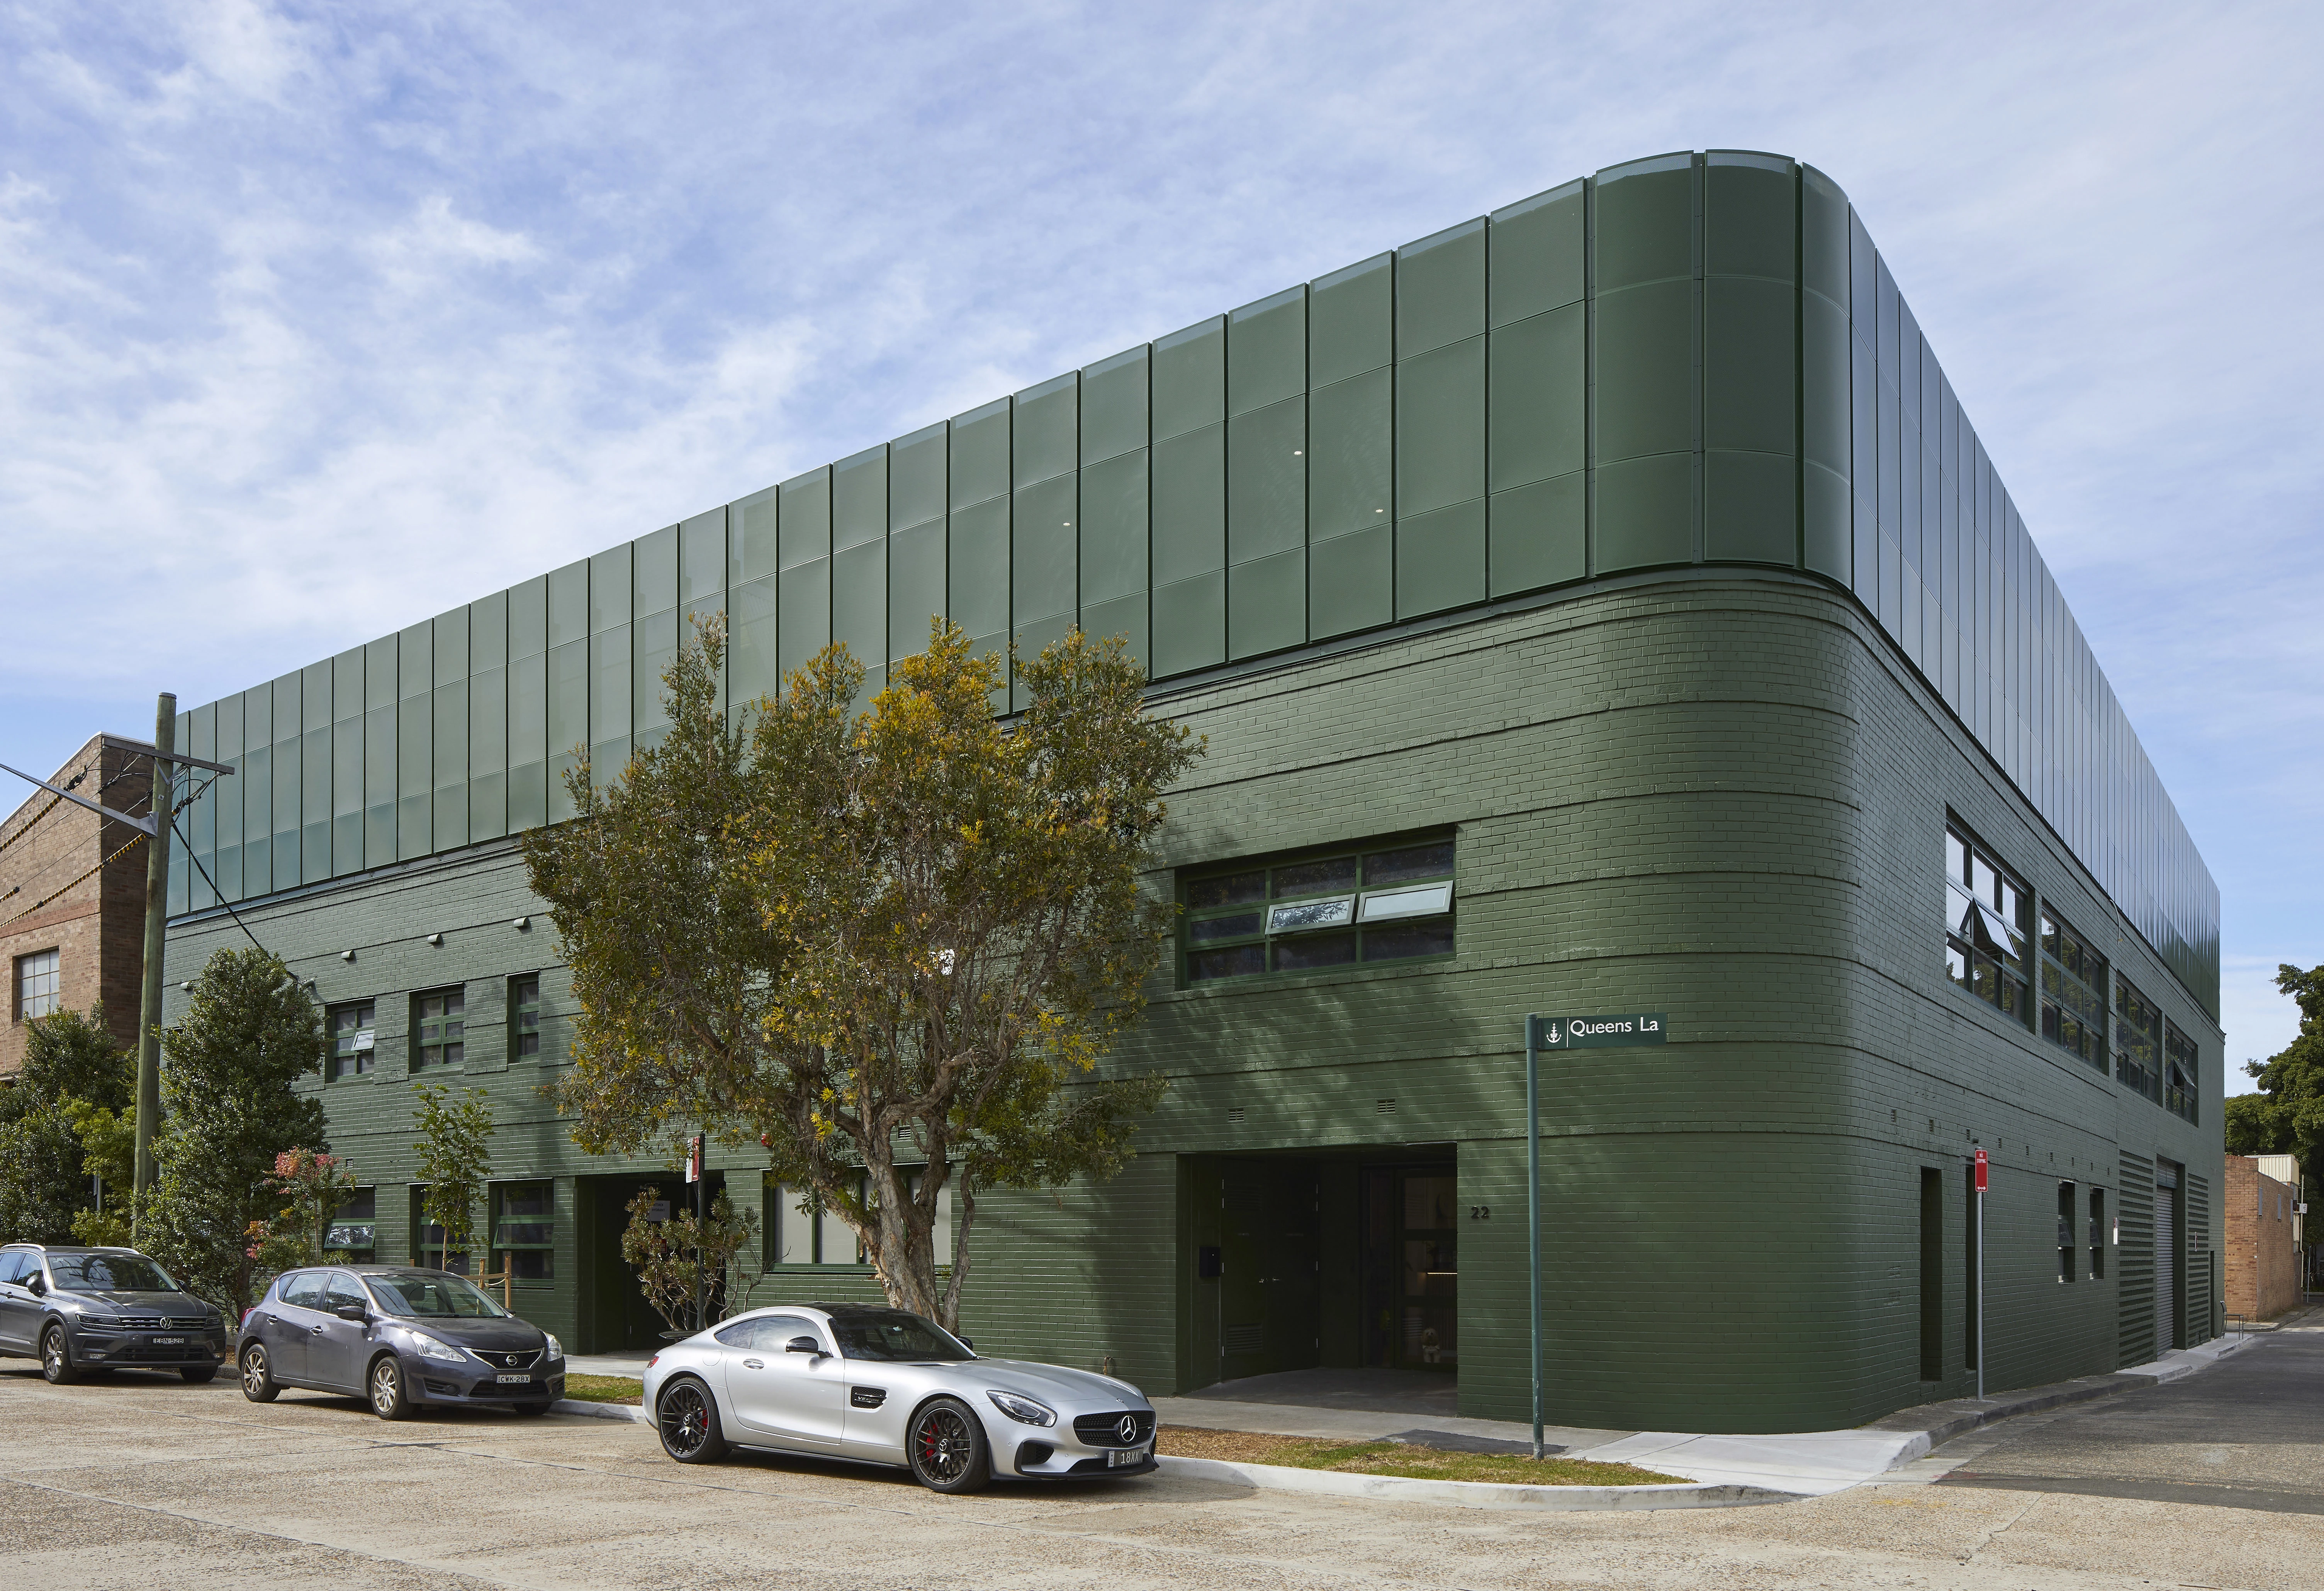
[[1364, 1363], [1459, 1366], [1457, 1201], [1452, 1166], [1364, 1171]]

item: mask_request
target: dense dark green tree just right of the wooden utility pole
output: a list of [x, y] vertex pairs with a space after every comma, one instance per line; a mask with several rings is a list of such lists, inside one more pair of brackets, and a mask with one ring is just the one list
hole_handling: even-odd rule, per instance
[[251, 1222], [281, 1208], [277, 1157], [321, 1150], [323, 1013], [281, 959], [218, 950], [193, 980], [186, 1020], [163, 1034], [158, 1178], [137, 1238], [230, 1319], [251, 1305]]

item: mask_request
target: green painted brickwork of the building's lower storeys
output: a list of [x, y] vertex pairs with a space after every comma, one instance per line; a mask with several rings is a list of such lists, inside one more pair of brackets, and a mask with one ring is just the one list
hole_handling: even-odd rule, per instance
[[[1155, 1391], [1206, 1384], [1215, 1361], [1192, 1326], [1215, 1282], [1181, 1231], [1181, 1157], [1443, 1143], [1459, 1203], [1494, 1212], [1462, 1233], [1462, 1408], [1522, 1417], [1520, 1017], [1620, 1008], [1666, 1010], [1673, 1043], [1564, 1054], [1545, 1080], [1552, 1419], [1799, 1431], [1961, 1394], [1975, 1145], [1994, 1159], [1989, 1384], [2136, 1352], [2152, 1303], [2133, 1252], [2106, 1282], [2054, 1280], [2057, 1182], [2096, 1182], [2129, 1217], [2124, 1157], [2217, 1166], [2219, 1031], [1848, 595], [1780, 571], [1629, 576], [1160, 706], [1211, 741], [1174, 794], [1167, 864], [1452, 825], [1459, 955], [1287, 982], [1160, 978], [1118, 1057], [1174, 1078], [1139, 1161], [1104, 1187], [983, 1203], [964, 1329], [985, 1352], [1111, 1354]], [[2199, 1036], [2201, 1126], [1945, 982], [1948, 811]], [[469, 982], [479, 1024], [472, 1080], [509, 1122], [504, 1171], [558, 1175], [560, 1212], [574, 1178], [646, 1171], [562, 1140], [535, 1094], [553, 1068], [500, 1064], [495, 980], [551, 962], [541, 927], [509, 927], [537, 904], [504, 845], [242, 910], [325, 999], [381, 1001], [379, 1075], [325, 1096], [335, 1147], [367, 1178], [411, 1164], [388, 1027], [407, 992], [451, 980]], [[225, 943], [218, 913], [181, 922], [170, 978]], [[569, 994], [548, 973], [553, 1054]], [[713, 1164], [753, 1196], [746, 1154]], [[1945, 1178], [1938, 1382], [1917, 1377], [1922, 1166]], [[395, 1243], [397, 1198], [381, 1194]], [[2215, 1224], [2203, 1212], [2189, 1273]], [[560, 1331], [583, 1310], [567, 1259], [528, 1303]], [[841, 1284], [862, 1273], [790, 1270], [760, 1301]], [[2196, 1310], [2187, 1340], [2208, 1336], [2208, 1298]]]

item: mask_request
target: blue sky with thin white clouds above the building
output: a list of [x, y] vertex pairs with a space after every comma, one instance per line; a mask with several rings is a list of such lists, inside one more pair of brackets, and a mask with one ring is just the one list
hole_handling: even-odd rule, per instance
[[2324, 962], [2319, 58], [2312, 0], [0, 0], [0, 762], [1769, 149], [1855, 200], [2219, 880], [2240, 1092]]

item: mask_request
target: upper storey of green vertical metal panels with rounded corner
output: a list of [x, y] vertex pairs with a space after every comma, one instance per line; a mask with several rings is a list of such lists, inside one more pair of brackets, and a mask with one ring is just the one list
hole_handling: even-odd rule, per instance
[[[930, 615], [1157, 681], [1611, 574], [1850, 588], [2187, 989], [2219, 892], [1910, 307], [1813, 167], [1634, 160], [200, 706], [170, 910], [500, 838], [660, 732]], [[995, 701], [1006, 711], [1009, 701]]]

